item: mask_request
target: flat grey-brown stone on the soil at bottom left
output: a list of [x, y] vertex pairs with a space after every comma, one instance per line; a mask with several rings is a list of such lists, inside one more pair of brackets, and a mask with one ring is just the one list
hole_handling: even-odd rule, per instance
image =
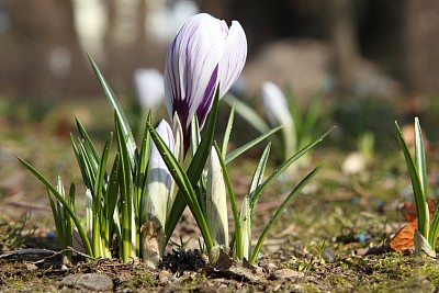
[[113, 289], [113, 281], [105, 274], [98, 273], [77, 273], [63, 279], [61, 285], [87, 289], [92, 291], [109, 291]]

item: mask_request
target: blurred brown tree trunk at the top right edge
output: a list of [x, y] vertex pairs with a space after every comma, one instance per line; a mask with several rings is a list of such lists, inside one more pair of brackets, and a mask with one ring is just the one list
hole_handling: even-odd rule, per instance
[[415, 93], [439, 90], [439, 2], [405, 1], [406, 77]]

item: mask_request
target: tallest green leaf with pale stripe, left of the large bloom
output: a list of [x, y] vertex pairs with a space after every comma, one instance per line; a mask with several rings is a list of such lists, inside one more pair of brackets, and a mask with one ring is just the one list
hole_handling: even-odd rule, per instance
[[117, 119], [120, 121], [121, 124], [121, 128], [122, 128], [122, 137], [123, 137], [123, 142], [126, 145], [126, 149], [128, 150], [128, 156], [130, 156], [130, 160], [131, 160], [131, 166], [132, 166], [132, 172], [135, 172], [135, 166], [136, 166], [136, 160], [137, 160], [137, 147], [136, 147], [136, 142], [134, 140], [133, 137], [133, 133], [131, 131], [130, 124], [128, 124], [128, 120], [125, 116], [125, 113], [122, 110], [121, 104], [117, 101], [116, 95], [114, 94], [113, 90], [110, 88], [110, 84], [106, 82], [105, 78], [103, 77], [103, 75], [101, 74], [101, 71], [99, 70], [97, 64], [94, 63], [94, 60], [91, 58], [90, 55], [87, 55], [89, 57], [91, 67], [94, 70], [94, 74], [98, 77], [99, 82], [102, 86], [102, 89], [105, 93], [106, 99], [109, 100], [111, 106], [113, 108], [113, 110], [115, 111]]

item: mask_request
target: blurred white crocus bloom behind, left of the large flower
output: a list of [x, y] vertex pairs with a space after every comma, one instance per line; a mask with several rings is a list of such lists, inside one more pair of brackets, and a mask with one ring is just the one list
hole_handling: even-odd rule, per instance
[[137, 98], [144, 110], [156, 109], [165, 97], [164, 76], [154, 68], [137, 69], [134, 72]]

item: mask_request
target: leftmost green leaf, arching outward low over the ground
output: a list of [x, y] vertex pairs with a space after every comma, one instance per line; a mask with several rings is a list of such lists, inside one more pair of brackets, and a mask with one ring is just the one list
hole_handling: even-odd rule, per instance
[[27, 168], [27, 170], [30, 170], [36, 178], [38, 178], [40, 181], [43, 182], [43, 184], [46, 185], [46, 188], [55, 195], [55, 198], [63, 204], [63, 206], [66, 209], [67, 213], [71, 216], [71, 219], [75, 223], [76, 228], [78, 229], [78, 233], [81, 237], [83, 247], [86, 249], [86, 253], [88, 253], [89, 256], [93, 257], [93, 251], [91, 249], [90, 246], [90, 241], [87, 238], [87, 234], [81, 225], [81, 222], [79, 221], [79, 218], [77, 217], [77, 215], [75, 214], [74, 210], [71, 210], [71, 207], [69, 206], [68, 202], [64, 199], [64, 196], [56, 190], [56, 188], [54, 185], [50, 184], [50, 182], [47, 181], [46, 178], [44, 178], [44, 176], [42, 176], [34, 167], [32, 167], [30, 164], [27, 164], [25, 160], [23, 160], [22, 158], [18, 158], [21, 164], [24, 165], [24, 167]]

